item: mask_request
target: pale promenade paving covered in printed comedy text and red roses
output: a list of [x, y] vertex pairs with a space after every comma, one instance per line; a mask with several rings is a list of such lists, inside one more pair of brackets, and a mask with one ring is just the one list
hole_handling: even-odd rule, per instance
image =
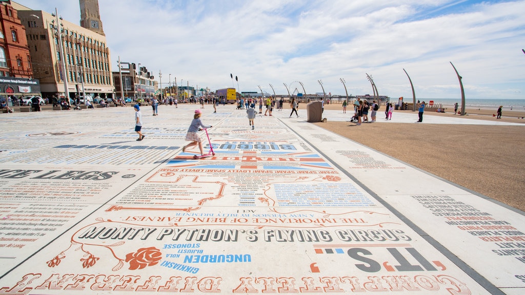
[[[131, 107], [0, 114], [0, 294], [525, 293], [520, 210], [304, 108], [251, 130], [207, 105], [215, 155], [194, 160], [199, 108], [143, 107], [143, 141]], [[376, 124], [516, 124], [394, 116]]]

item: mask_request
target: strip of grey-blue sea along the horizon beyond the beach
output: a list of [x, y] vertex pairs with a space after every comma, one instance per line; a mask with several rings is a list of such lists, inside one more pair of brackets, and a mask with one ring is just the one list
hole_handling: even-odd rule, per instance
[[[390, 98], [392, 100], [392, 98]], [[442, 103], [444, 106], [454, 106], [454, 103], [458, 103], [461, 107], [461, 99], [457, 98], [416, 98], [421, 101], [429, 102], [433, 100], [434, 103]], [[412, 99], [405, 102], [411, 102]], [[503, 106], [503, 109], [516, 109], [516, 110], [525, 110], [525, 99], [470, 99], [465, 98], [465, 107], [477, 107], [477, 108], [499, 108]]]

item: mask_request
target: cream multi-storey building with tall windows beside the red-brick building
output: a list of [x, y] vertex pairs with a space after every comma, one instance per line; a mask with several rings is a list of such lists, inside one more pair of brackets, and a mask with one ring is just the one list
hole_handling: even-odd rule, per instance
[[[83, 94], [101, 98], [114, 96], [111, 55], [106, 36], [43, 10], [32, 10], [15, 2], [12, 5], [26, 26], [33, 76], [40, 81], [43, 97], [65, 97], [64, 79], [70, 98]], [[62, 62], [65, 63], [65, 72]]]

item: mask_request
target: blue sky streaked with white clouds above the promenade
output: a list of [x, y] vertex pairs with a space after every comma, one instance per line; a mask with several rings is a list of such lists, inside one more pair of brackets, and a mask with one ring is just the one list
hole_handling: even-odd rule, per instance
[[[80, 23], [74, 0], [18, 0]], [[525, 99], [525, 0], [99, 0], [117, 60], [162, 86]], [[404, 71], [405, 70], [405, 71]], [[171, 74], [171, 75], [170, 75]], [[230, 76], [231, 75], [231, 76]], [[232, 79], [233, 76], [233, 79]], [[237, 77], [237, 80], [235, 79]], [[344, 81], [344, 85], [343, 82]], [[271, 86], [270, 86], [271, 85]], [[286, 85], [286, 87], [285, 87]], [[273, 90], [272, 90], [273, 88]]]

